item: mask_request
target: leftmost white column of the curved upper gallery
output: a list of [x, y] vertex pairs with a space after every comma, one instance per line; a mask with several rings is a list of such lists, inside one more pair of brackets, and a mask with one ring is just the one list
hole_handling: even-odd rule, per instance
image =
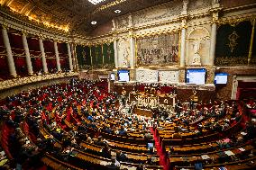
[[13, 57], [10, 41], [8, 38], [8, 33], [5, 28], [2, 29], [2, 34], [3, 34], [5, 49], [6, 49], [6, 53], [7, 53], [7, 61], [8, 61], [10, 75], [17, 76], [15, 64], [14, 64], [14, 57]]

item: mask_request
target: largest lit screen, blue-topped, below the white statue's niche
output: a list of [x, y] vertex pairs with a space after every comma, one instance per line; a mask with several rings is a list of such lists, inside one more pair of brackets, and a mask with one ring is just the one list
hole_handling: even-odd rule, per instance
[[189, 68], [186, 75], [187, 84], [205, 85], [206, 68]]

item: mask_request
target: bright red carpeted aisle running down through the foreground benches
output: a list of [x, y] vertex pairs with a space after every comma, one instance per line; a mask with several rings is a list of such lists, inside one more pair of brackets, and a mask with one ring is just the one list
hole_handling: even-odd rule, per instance
[[166, 155], [162, 152], [159, 138], [156, 136], [153, 128], [151, 128], [151, 132], [155, 140], [155, 148], [157, 149], [158, 156], [160, 157], [160, 166], [163, 166], [163, 170], [169, 170], [169, 166], [166, 161]]

